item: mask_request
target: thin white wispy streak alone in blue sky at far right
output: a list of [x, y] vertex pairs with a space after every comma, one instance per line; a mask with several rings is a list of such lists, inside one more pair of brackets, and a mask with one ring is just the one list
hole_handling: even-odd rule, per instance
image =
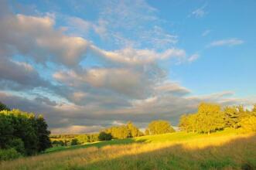
[[217, 41], [210, 42], [208, 47], [211, 46], [237, 46], [243, 44], [244, 41], [241, 39], [233, 38], [233, 39], [220, 39]]

